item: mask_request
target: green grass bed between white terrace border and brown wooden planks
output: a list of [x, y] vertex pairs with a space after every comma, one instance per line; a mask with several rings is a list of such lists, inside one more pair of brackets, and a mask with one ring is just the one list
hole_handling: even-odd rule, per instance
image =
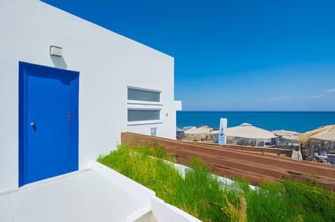
[[98, 161], [202, 221], [335, 221], [334, 192], [313, 182], [285, 180], [251, 189], [245, 180], [218, 182], [198, 159], [190, 159], [193, 170], [184, 178], [162, 159], [174, 161], [163, 148], [122, 145]]

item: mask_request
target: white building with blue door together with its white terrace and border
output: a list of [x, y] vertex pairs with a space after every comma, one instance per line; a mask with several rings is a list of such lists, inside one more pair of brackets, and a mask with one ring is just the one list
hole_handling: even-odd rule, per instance
[[0, 1], [0, 221], [199, 221], [96, 162], [175, 138], [174, 60], [38, 0]]

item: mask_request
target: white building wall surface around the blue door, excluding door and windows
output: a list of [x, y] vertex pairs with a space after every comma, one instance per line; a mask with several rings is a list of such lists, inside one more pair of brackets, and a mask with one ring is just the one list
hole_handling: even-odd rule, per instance
[[[124, 131], [175, 138], [172, 57], [37, 0], [0, 1], [0, 30], [0, 191], [18, 185], [19, 61], [80, 72], [80, 168]], [[163, 123], [127, 125], [127, 86], [162, 91]]]

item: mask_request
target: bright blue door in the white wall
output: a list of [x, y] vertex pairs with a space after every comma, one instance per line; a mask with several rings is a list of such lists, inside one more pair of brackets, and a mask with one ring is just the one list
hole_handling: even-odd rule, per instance
[[79, 72], [19, 63], [19, 186], [78, 169]]

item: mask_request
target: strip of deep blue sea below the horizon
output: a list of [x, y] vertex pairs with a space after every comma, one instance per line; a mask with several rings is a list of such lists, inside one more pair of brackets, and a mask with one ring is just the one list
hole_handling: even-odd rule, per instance
[[262, 129], [296, 132], [335, 125], [335, 111], [177, 111], [177, 127], [183, 129], [206, 125], [218, 129], [220, 118], [228, 119], [228, 127], [248, 122]]

